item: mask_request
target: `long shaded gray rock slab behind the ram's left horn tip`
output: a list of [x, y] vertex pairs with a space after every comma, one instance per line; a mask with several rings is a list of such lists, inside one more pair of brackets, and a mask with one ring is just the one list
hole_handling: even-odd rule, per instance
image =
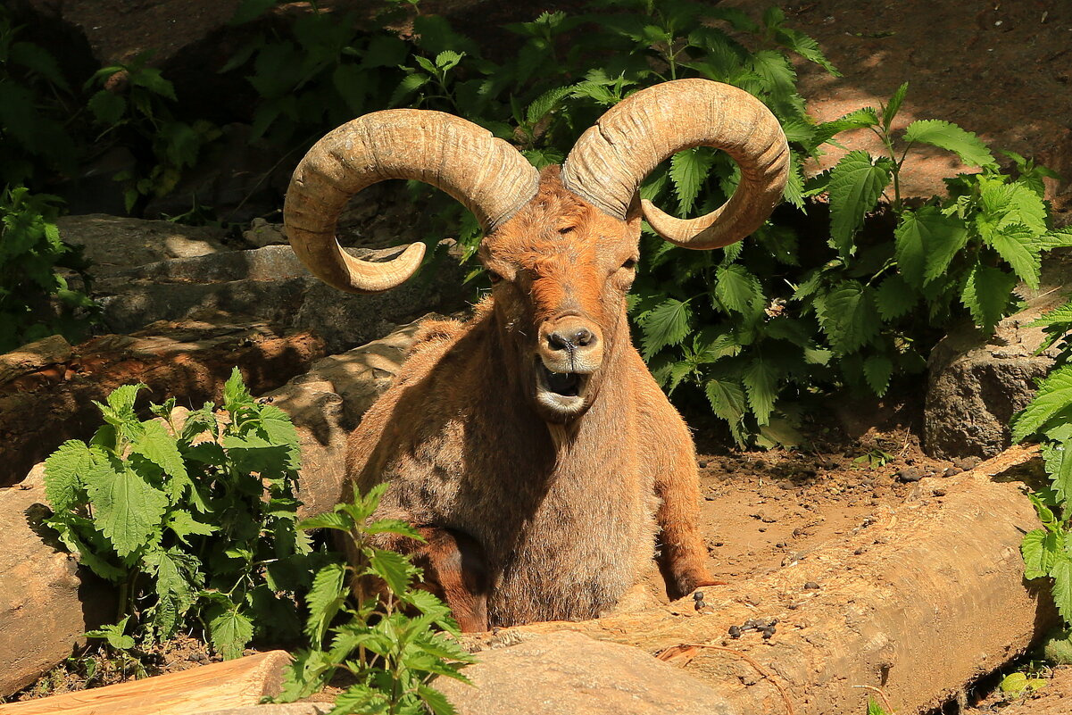
[[[348, 251], [384, 259], [401, 248]], [[263, 321], [277, 328], [310, 330], [325, 340], [329, 353], [341, 353], [429, 310], [461, 308], [462, 281], [461, 266], [441, 255], [392, 291], [346, 294], [312, 277], [289, 247], [269, 245], [117, 270], [99, 280], [94, 293], [104, 323], [114, 332], [131, 332], [161, 319]]]

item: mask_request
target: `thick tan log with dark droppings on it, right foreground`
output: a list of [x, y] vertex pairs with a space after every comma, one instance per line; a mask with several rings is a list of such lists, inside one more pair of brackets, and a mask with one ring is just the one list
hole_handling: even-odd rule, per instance
[[[1013, 447], [972, 472], [925, 479], [876, 521], [747, 582], [704, 589], [701, 612], [689, 599], [485, 639], [494, 646], [577, 630], [664, 653], [719, 691], [726, 712], [862, 713], [868, 687], [900, 715], [926, 712], [1023, 654], [1056, 621], [1048, 585], [1025, 583], [1019, 555], [1038, 520], [1014, 473], [1038, 468], [1034, 457]], [[777, 621], [772, 638], [729, 636], [756, 619]]]

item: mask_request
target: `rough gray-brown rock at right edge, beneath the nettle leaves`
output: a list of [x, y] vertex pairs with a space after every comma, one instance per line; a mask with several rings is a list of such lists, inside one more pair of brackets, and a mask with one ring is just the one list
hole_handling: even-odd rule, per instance
[[[943, 338], [927, 360], [924, 449], [938, 459], [991, 458], [1009, 447], [1009, 420], [1034, 396], [1036, 383], [1054, 364], [1041, 328], [1028, 327], [1068, 300], [1072, 260], [1051, 254], [1039, 291], [1027, 307], [1001, 321], [985, 340], [966, 326]], [[1022, 286], [1021, 291], [1025, 291]]]

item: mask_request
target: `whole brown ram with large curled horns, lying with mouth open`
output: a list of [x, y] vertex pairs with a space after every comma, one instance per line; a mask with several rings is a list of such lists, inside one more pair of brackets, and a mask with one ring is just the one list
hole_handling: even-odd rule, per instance
[[[638, 200], [659, 162], [700, 145], [741, 167], [725, 206], [681, 220]], [[389, 482], [377, 515], [428, 541], [385, 542], [414, 554], [464, 629], [594, 617], [656, 551], [672, 596], [713, 583], [693, 441], [632, 346], [625, 297], [641, 219], [689, 249], [738, 241], [780, 200], [788, 155], [750, 94], [682, 79], [607, 111], [561, 168], [537, 172], [475, 124], [420, 109], [355, 119], [302, 160], [286, 230], [342, 291], [386, 291], [421, 263], [422, 244], [368, 263], [334, 240], [346, 200], [376, 181], [437, 187], [486, 230], [492, 296], [467, 323], [423, 330], [347, 464], [362, 489]]]

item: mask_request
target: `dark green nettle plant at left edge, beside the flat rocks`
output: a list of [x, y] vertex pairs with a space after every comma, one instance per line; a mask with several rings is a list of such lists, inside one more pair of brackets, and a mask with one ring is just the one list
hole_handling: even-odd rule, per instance
[[60, 333], [76, 342], [96, 314], [94, 303], [57, 269], [85, 273], [81, 249], [60, 240], [60, 199], [26, 187], [0, 193], [0, 353]]

